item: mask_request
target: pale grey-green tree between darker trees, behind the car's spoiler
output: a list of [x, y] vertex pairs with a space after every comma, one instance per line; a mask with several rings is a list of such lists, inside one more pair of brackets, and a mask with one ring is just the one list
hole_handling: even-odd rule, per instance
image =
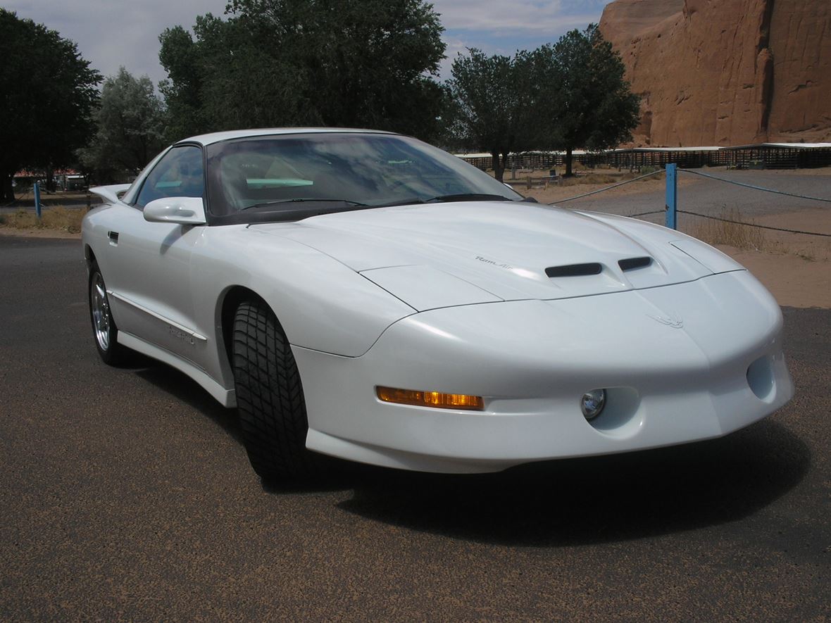
[[153, 83], [147, 76], [135, 78], [124, 67], [104, 81], [93, 117], [95, 138], [78, 155], [99, 178], [135, 174], [165, 145], [165, 111]]

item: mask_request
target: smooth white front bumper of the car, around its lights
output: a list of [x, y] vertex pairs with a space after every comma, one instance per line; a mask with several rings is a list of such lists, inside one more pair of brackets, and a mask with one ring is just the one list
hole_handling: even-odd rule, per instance
[[[793, 395], [782, 316], [746, 271], [551, 302], [409, 316], [364, 356], [294, 348], [307, 447], [388, 467], [487, 472], [711, 439]], [[376, 385], [482, 395], [484, 412], [382, 403]], [[607, 389], [591, 422], [579, 400]]]

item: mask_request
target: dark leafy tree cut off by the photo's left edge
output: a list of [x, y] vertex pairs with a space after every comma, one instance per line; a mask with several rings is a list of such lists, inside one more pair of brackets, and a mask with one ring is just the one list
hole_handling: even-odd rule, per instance
[[0, 201], [14, 200], [24, 168], [71, 164], [93, 124], [101, 74], [74, 42], [0, 8]]

